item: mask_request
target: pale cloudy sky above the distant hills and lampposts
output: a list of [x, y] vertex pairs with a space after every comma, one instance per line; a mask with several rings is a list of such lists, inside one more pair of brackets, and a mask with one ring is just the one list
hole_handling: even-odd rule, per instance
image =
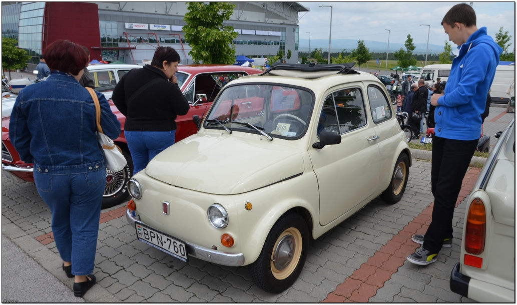
[[[299, 2], [310, 12], [299, 14], [300, 39], [329, 37], [330, 8], [332, 6], [332, 40], [356, 39], [404, 43], [410, 34], [414, 43], [445, 45], [448, 40], [440, 25], [447, 11], [460, 2]], [[466, 2], [469, 3], [469, 2]], [[502, 26], [511, 35], [509, 51], [515, 48], [515, 2], [473, 2], [477, 26], [486, 26], [488, 34], [495, 34]], [[429, 24], [429, 26], [419, 26]], [[304, 40], [300, 40], [300, 47]], [[453, 47], [455, 46], [450, 42]], [[391, 49], [391, 48], [390, 48]]]

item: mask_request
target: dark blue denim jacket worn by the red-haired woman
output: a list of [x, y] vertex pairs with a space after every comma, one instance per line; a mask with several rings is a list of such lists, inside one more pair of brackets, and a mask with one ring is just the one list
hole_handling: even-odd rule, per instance
[[[97, 92], [104, 134], [115, 139], [120, 122]], [[9, 138], [26, 163], [48, 174], [79, 174], [104, 168], [97, 143], [95, 105], [72, 75], [51, 71], [47, 80], [25, 87], [14, 103]]]

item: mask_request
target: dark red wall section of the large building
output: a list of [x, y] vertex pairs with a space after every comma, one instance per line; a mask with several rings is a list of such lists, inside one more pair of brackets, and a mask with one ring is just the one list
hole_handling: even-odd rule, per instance
[[99, 13], [95, 3], [47, 2], [45, 4], [43, 49], [58, 39], [84, 45], [91, 59], [102, 60], [100, 50]]

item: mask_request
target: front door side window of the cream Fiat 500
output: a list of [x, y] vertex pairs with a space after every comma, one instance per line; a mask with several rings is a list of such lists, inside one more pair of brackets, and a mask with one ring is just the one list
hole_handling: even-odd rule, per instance
[[366, 112], [361, 90], [347, 88], [335, 91], [325, 98], [318, 134], [323, 131], [346, 133], [366, 125]]

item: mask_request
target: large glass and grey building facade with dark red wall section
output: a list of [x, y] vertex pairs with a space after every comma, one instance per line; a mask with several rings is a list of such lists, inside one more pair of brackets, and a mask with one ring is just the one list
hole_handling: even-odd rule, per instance
[[[296, 62], [299, 14], [309, 9], [297, 2], [233, 4], [224, 25], [238, 33], [235, 55], [272, 57], [291, 51]], [[192, 64], [181, 31], [187, 12], [186, 2], [3, 2], [2, 36], [17, 39], [33, 57], [31, 64], [57, 39], [84, 45], [92, 60], [142, 64], [158, 46], [165, 46], [178, 51], [181, 64]]]

